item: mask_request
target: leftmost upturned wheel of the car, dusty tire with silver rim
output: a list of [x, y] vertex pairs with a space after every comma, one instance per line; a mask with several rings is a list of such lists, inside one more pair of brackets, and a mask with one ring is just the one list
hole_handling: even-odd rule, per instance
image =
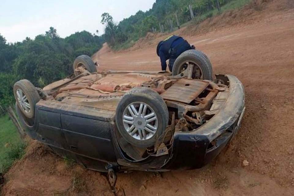
[[[25, 117], [33, 119], [35, 116], [36, 103], [38, 103], [41, 99], [35, 86], [28, 80], [17, 81], [13, 86], [13, 95], [19, 109], [25, 115]], [[25, 99], [21, 100], [19, 98], [22, 95], [25, 96]], [[29, 109], [27, 106], [29, 106]]]

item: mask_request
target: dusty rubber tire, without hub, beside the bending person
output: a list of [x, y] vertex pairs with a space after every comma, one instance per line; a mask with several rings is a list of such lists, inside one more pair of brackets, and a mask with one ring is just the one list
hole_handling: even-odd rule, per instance
[[208, 57], [203, 52], [193, 49], [187, 50], [178, 56], [172, 68], [172, 75], [180, 74], [183, 71], [183, 63], [187, 61], [194, 62], [195, 66], [198, 66], [201, 70], [202, 78], [192, 77], [193, 79], [213, 80], [212, 65]]

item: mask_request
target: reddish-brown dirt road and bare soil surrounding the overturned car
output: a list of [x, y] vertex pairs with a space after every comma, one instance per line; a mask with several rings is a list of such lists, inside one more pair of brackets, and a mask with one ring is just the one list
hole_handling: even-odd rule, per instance
[[[217, 159], [202, 169], [119, 173], [117, 189], [126, 196], [293, 195], [292, 2], [264, 2], [261, 11], [247, 7], [242, 11], [250, 14], [241, 22], [230, 19], [228, 13], [204, 21], [207, 25], [218, 21], [216, 30], [213, 25], [204, 32], [197, 30], [203, 24], [186, 28], [185, 38], [207, 54], [215, 73], [233, 74], [243, 82], [247, 110], [241, 129]], [[225, 24], [220, 25], [222, 20]], [[191, 35], [193, 31], [198, 34]], [[101, 70], [160, 70], [155, 46], [163, 37], [152, 37], [156, 38], [121, 52], [112, 52], [105, 44], [93, 59]], [[66, 164], [36, 141], [5, 178], [3, 195], [113, 195], [102, 173]]]

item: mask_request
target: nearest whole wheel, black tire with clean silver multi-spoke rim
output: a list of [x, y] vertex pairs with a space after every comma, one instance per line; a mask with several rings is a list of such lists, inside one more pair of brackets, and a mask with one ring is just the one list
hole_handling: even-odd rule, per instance
[[161, 96], [149, 88], [127, 92], [116, 109], [119, 133], [130, 144], [147, 148], [158, 141], [168, 125], [168, 108]]

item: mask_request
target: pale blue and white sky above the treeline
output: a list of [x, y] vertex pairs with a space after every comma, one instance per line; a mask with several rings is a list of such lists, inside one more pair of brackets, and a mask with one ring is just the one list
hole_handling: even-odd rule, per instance
[[115, 22], [152, 8], [155, 0], [1, 0], [0, 34], [7, 42], [34, 39], [49, 27], [64, 38], [78, 31], [104, 33], [101, 14], [110, 13]]

